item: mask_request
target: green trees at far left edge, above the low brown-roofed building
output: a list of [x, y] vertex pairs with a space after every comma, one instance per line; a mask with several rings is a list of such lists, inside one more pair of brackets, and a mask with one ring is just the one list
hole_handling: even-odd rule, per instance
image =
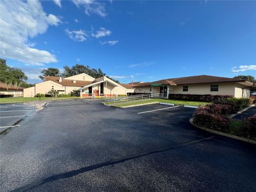
[[20, 86], [22, 82], [26, 82], [28, 77], [21, 69], [9, 67], [5, 59], [0, 58], [0, 82], [8, 86]]

